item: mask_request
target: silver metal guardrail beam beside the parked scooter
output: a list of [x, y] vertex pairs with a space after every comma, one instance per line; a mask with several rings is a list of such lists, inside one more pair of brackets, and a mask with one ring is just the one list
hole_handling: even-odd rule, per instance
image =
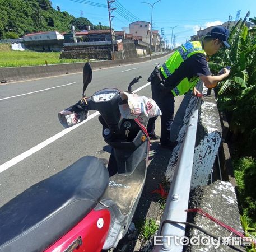
[[159, 233], [160, 230], [162, 231], [161, 234], [157, 234], [157, 236], [155, 236], [155, 247], [153, 248], [153, 252], [181, 252], [183, 250], [183, 245], [180, 244], [179, 240], [175, 242], [175, 237], [179, 237], [180, 239], [184, 236], [185, 225], [164, 223], [162, 226], [162, 222], [165, 220], [185, 222], [187, 220], [187, 212], [185, 212], [185, 209], [188, 209], [197, 124], [198, 110], [195, 110], [192, 116], [190, 116], [187, 133], [184, 136], [184, 140], [180, 148], [180, 156], [166, 200]]

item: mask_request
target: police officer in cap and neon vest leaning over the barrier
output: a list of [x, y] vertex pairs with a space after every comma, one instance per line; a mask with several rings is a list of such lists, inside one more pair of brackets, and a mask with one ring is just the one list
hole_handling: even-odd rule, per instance
[[207, 88], [213, 88], [218, 82], [229, 76], [229, 69], [224, 68], [223, 74], [211, 76], [206, 56], [213, 55], [220, 48], [229, 48], [227, 43], [229, 30], [222, 26], [214, 27], [204, 36], [202, 41], [187, 42], [179, 46], [171, 57], [159, 68], [155, 68], [151, 81], [152, 98], [162, 111], [161, 138], [155, 134], [155, 120], [150, 118], [147, 131], [150, 139], [159, 139], [161, 146], [172, 149], [176, 142], [170, 141], [170, 128], [173, 122], [174, 97], [183, 95], [189, 90], [193, 95], [199, 91], [196, 84], [201, 79]]

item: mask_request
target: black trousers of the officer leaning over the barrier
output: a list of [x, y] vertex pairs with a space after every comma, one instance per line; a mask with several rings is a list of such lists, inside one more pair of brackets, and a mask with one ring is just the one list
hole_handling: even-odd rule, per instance
[[[151, 82], [152, 99], [155, 100], [156, 104], [162, 111], [161, 115], [161, 144], [167, 144], [170, 142], [170, 131], [171, 124], [173, 123], [174, 115], [174, 96], [170, 91], [166, 92], [161, 90], [157, 82]], [[150, 118], [147, 124], [148, 134], [154, 133], [155, 121], [157, 117]]]

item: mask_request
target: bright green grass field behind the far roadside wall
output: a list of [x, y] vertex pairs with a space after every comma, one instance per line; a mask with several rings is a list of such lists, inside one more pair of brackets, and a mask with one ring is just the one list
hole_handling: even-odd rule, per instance
[[46, 64], [86, 62], [86, 59], [59, 59], [60, 52], [7, 51], [0, 52], [0, 67], [23, 67]]

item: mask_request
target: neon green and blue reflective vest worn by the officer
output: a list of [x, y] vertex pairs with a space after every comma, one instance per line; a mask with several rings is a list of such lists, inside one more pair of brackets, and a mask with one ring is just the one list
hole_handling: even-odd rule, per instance
[[[182, 62], [184, 62], [187, 58], [191, 57], [196, 53], [203, 53], [204, 55], [206, 55], [206, 52], [204, 52], [202, 45], [199, 41], [189, 41], [184, 45], [179, 46], [174, 54], [171, 55], [171, 57], [166, 60], [166, 62], [161, 66], [160, 69], [162, 75], [165, 78], [171, 76], [171, 74], [175, 72], [175, 70], [180, 66]], [[171, 90], [171, 92], [174, 96], [183, 95], [189, 90], [193, 90], [198, 80], [198, 76], [194, 76], [190, 80], [188, 80], [188, 78], [184, 78], [180, 83], [176, 85], [173, 90]]]

